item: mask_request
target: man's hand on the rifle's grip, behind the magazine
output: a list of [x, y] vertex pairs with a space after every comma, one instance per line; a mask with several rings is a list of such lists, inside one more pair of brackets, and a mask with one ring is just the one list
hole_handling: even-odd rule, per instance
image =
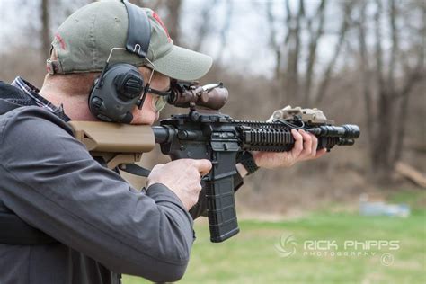
[[180, 159], [157, 164], [148, 176], [146, 186], [162, 183], [173, 191], [189, 210], [197, 203], [201, 191], [201, 176], [209, 173], [209, 160]]

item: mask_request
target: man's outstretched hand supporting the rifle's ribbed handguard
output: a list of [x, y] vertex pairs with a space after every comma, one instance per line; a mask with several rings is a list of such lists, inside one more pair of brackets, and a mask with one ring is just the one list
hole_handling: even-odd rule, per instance
[[292, 129], [291, 134], [295, 138], [295, 146], [289, 152], [253, 152], [256, 164], [262, 168], [289, 167], [300, 161], [319, 158], [326, 153], [326, 149], [316, 151], [318, 139], [315, 135], [300, 129]]

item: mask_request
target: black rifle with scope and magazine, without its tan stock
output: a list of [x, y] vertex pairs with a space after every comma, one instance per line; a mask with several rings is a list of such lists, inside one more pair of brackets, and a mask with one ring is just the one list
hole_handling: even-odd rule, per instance
[[208, 159], [213, 164], [202, 178], [206, 190], [210, 239], [222, 242], [239, 232], [235, 212], [234, 176], [237, 156], [244, 151], [284, 152], [294, 146], [291, 129], [304, 129], [318, 138], [318, 149], [351, 146], [359, 137], [356, 125], [333, 126], [322, 111], [283, 109], [271, 122], [233, 120], [218, 110], [226, 103], [222, 84], [174, 84], [169, 103], [190, 107], [153, 127], [155, 142], [172, 160]]

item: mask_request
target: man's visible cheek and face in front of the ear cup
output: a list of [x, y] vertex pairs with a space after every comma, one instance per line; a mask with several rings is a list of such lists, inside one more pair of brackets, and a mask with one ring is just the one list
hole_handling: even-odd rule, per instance
[[[146, 74], [141, 72], [142, 74]], [[144, 75], [144, 81], [148, 82], [149, 77]], [[167, 91], [170, 88], [170, 78], [160, 73], [155, 73], [151, 80], [151, 88], [158, 91]], [[147, 93], [144, 105], [141, 110], [138, 107], [133, 109], [133, 120], [130, 124], [153, 124], [155, 120], [158, 120], [159, 112], [155, 110], [155, 101], [158, 100], [158, 96], [153, 93]]]

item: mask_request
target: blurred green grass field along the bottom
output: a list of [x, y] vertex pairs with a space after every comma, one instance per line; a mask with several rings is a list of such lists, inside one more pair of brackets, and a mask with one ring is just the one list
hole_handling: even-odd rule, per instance
[[[211, 244], [207, 224], [198, 223], [181, 282], [426, 283], [426, 192], [399, 193], [390, 200], [410, 204], [411, 216], [324, 210], [290, 221], [243, 220], [241, 232], [223, 244]], [[381, 248], [376, 241], [382, 241]], [[394, 241], [394, 246], [383, 241]], [[371, 247], [362, 249], [362, 244]], [[124, 276], [123, 283], [147, 281]]]

